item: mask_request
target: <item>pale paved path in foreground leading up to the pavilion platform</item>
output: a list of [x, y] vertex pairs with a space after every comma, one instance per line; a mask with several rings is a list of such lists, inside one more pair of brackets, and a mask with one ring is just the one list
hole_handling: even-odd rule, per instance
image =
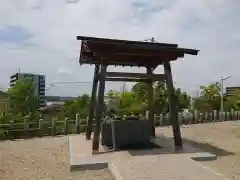
[[158, 155], [114, 161], [125, 180], [223, 180], [194, 160], [179, 155]]

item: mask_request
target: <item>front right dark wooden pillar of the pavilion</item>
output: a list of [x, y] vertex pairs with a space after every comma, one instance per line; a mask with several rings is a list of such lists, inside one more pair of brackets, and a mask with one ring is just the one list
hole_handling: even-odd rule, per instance
[[169, 120], [173, 129], [174, 144], [176, 147], [182, 147], [182, 137], [180, 132], [180, 126], [178, 122], [178, 113], [176, 108], [176, 99], [174, 95], [174, 87], [172, 80], [172, 70], [169, 61], [164, 61], [164, 73], [166, 75], [167, 91], [168, 91], [168, 103], [169, 103]]

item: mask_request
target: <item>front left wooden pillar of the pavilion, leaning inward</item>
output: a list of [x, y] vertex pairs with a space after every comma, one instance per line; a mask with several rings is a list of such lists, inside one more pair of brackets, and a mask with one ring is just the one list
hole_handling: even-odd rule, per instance
[[94, 129], [92, 153], [97, 153], [99, 150], [100, 131], [101, 131], [101, 119], [104, 115], [104, 90], [106, 80], [107, 65], [102, 64], [99, 74], [99, 89], [98, 89], [98, 101], [96, 110], [96, 126]]

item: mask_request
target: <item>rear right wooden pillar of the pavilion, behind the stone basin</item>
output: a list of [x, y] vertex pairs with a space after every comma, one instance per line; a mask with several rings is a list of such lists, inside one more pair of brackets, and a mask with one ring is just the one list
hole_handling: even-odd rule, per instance
[[[152, 74], [152, 68], [147, 67], [147, 74]], [[156, 137], [155, 133], [155, 122], [154, 122], [154, 113], [153, 113], [153, 83], [152, 80], [149, 79], [148, 82], [148, 120], [151, 123], [151, 136]]]

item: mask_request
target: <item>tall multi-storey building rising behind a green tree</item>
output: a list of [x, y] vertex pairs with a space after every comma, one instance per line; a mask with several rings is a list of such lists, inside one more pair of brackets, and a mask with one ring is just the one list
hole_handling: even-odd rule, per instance
[[39, 74], [16, 73], [10, 77], [10, 87], [16, 84], [17, 80], [31, 79], [35, 84], [35, 95], [38, 98], [38, 107], [45, 107], [45, 76]]

